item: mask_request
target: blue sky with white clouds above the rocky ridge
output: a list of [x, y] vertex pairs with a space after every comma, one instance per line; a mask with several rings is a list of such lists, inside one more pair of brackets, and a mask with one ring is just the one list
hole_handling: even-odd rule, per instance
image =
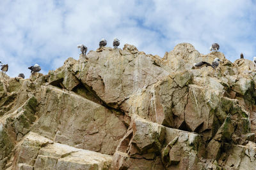
[[42, 73], [79, 58], [77, 45], [96, 50], [116, 37], [138, 50], [163, 57], [178, 43], [200, 53], [220, 44], [232, 62], [256, 56], [256, 3], [250, 0], [0, 0], [0, 60], [9, 76], [40, 64]]

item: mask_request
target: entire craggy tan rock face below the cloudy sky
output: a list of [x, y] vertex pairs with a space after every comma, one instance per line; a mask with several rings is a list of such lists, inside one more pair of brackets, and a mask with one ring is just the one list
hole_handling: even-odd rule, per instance
[[[195, 62], [222, 60], [216, 69]], [[253, 169], [255, 66], [133, 45], [29, 79], [0, 73], [0, 169]]]

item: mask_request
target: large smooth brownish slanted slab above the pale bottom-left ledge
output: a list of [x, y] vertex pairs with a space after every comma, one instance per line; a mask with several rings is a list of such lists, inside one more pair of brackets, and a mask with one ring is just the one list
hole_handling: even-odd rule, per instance
[[116, 111], [51, 85], [42, 87], [38, 121], [31, 131], [56, 142], [113, 154], [126, 132]]

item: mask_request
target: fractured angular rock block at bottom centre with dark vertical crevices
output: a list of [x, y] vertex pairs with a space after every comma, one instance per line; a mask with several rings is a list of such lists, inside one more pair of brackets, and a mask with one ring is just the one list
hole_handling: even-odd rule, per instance
[[[167, 128], [134, 116], [127, 134], [116, 148], [113, 167], [147, 169], [152, 164], [161, 169], [163, 166], [170, 169], [193, 167], [196, 155], [201, 154], [200, 140], [197, 134]], [[157, 157], [159, 154], [161, 158]], [[158, 164], [156, 161], [159, 159], [164, 164]]]

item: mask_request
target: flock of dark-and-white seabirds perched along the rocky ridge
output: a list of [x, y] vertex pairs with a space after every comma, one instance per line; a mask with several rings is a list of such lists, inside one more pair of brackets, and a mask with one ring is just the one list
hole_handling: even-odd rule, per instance
[[[102, 38], [100, 43], [99, 43], [99, 48], [102, 48], [103, 46], [106, 46], [107, 42], [108, 41], [106, 41], [105, 38]], [[119, 45], [120, 45], [120, 40], [115, 38], [113, 40], [114, 48], [117, 48]], [[81, 52], [82, 52], [81, 54], [86, 57], [86, 52], [87, 52], [88, 48], [85, 45], [77, 45], [77, 48], [81, 48]], [[214, 52], [217, 52], [219, 49], [220, 49], [220, 45], [218, 45], [218, 43], [213, 43], [210, 47], [210, 51], [214, 51]], [[244, 59], [243, 53], [241, 53], [240, 58]], [[216, 67], [219, 66], [219, 64], [220, 64], [219, 62], [221, 62], [221, 60], [219, 58], [214, 59], [212, 64], [210, 64], [209, 62], [201, 61], [201, 62], [195, 63], [194, 66], [192, 67], [192, 69], [200, 69], [204, 66], [205, 67], [210, 66], [215, 70]], [[253, 63], [256, 65], [256, 57], [253, 57]], [[0, 61], [0, 67], [1, 67], [1, 71], [3, 71], [4, 73], [6, 73], [6, 71], [8, 71], [8, 64], [3, 64]], [[36, 72], [39, 72], [41, 70], [41, 67], [38, 64], [35, 64], [34, 66], [28, 67], [28, 69], [31, 70], [31, 74], [34, 74]], [[18, 75], [18, 77], [25, 78], [23, 73], [20, 73]]]

